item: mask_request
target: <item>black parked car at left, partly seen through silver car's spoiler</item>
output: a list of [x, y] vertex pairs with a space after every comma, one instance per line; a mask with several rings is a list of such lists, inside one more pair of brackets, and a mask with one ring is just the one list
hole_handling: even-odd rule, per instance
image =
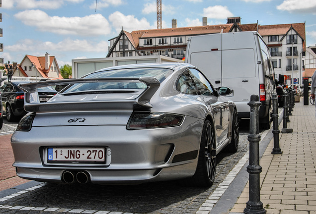
[[[24, 110], [24, 92], [18, 87], [22, 83], [30, 82], [9, 82], [0, 88], [3, 114], [6, 115], [7, 121], [13, 121], [27, 113]], [[57, 91], [50, 86], [38, 89], [40, 102], [48, 101], [55, 94]]]

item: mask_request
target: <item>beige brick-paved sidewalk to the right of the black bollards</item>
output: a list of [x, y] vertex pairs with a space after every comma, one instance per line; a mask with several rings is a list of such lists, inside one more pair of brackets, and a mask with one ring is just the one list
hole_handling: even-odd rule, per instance
[[[271, 154], [272, 139], [260, 160], [260, 201], [267, 214], [316, 214], [315, 106], [304, 106], [301, 98], [292, 114], [287, 128], [293, 133], [279, 135], [283, 154]], [[230, 214], [243, 213], [248, 200], [247, 183]]]

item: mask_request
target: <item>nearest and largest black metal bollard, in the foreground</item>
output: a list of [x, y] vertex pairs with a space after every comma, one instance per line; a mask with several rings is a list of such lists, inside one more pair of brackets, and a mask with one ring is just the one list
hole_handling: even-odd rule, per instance
[[243, 210], [245, 214], [265, 214], [263, 204], [260, 201], [260, 172], [262, 167], [259, 165], [259, 102], [258, 95], [251, 95], [250, 102], [250, 128], [249, 128], [249, 201]]

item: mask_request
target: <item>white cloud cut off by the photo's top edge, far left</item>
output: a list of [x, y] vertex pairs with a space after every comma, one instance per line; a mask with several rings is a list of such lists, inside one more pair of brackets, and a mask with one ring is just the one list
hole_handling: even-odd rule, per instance
[[67, 2], [80, 3], [84, 0], [5, 0], [2, 2], [2, 7], [11, 9], [57, 9]]

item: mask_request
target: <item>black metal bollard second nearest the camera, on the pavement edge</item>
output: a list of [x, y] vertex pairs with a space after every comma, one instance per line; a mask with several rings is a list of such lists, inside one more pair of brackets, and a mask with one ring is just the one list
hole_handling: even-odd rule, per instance
[[273, 119], [273, 143], [274, 148], [272, 149], [271, 154], [282, 154], [283, 152], [280, 149], [280, 142], [279, 142], [279, 113], [278, 113], [278, 96], [276, 94], [272, 95], [272, 105], [273, 105], [273, 113], [272, 113], [272, 119]]

